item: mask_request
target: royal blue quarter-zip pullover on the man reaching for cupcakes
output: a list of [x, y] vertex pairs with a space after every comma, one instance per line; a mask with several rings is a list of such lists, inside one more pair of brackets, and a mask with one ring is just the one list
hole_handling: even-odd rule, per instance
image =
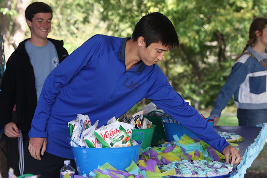
[[95, 35], [58, 65], [45, 80], [29, 137], [47, 138], [47, 152], [74, 159], [67, 123], [77, 114], [87, 114], [92, 123], [99, 120], [100, 127], [148, 98], [222, 152], [229, 143], [171, 87], [158, 65], [140, 61], [126, 71], [127, 39]]

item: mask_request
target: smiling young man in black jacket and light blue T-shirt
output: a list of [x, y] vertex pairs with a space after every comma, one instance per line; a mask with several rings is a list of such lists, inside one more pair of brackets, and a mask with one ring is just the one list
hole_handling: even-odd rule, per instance
[[[16, 143], [8, 148], [8, 155], [12, 157], [7, 159], [8, 167], [12, 167], [16, 175], [23, 174], [23, 143], [28, 137], [45, 78], [68, 56], [63, 41], [47, 38], [52, 12], [51, 7], [42, 2], [34, 2], [26, 8], [31, 38], [20, 42], [9, 57], [1, 83], [0, 121], [9, 137], [8, 147], [9, 141]], [[12, 120], [15, 104], [16, 124]]]

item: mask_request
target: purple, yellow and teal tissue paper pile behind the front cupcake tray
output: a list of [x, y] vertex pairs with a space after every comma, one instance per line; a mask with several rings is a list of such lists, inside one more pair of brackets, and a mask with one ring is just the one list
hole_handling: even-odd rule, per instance
[[[225, 156], [212, 148], [206, 142], [183, 135], [180, 138], [174, 135], [174, 142], [166, 142], [161, 144], [161, 147], [153, 147], [142, 151], [142, 156], [139, 160], [152, 159], [157, 162], [157, 165], [171, 163], [174, 160], [202, 160], [219, 161], [225, 160]], [[238, 147], [238, 144], [231, 143], [232, 146]]]

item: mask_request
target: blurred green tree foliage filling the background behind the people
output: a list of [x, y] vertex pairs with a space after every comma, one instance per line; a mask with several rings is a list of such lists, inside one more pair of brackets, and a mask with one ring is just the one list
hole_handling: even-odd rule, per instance
[[[94, 34], [131, 36], [135, 24], [145, 14], [165, 14], [174, 24], [181, 45], [166, 53], [159, 65], [174, 89], [190, 99], [193, 106], [194, 101], [199, 101], [201, 108], [213, 106], [231, 66], [246, 45], [253, 18], [267, 16], [266, 0], [43, 2], [54, 11], [48, 37], [63, 39], [69, 53]], [[8, 12], [13, 13], [12, 9]], [[26, 36], [29, 35], [28, 31]]]

